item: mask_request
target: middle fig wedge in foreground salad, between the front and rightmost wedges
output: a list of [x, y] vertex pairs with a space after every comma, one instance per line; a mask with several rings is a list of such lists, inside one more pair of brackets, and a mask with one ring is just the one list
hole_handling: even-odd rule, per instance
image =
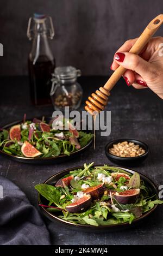
[[94, 187], [86, 188], [85, 190], [83, 190], [83, 193], [90, 194], [92, 199], [95, 200], [102, 197], [102, 195], [104, 194], [104, 190], [104, 183], [102, 183]]

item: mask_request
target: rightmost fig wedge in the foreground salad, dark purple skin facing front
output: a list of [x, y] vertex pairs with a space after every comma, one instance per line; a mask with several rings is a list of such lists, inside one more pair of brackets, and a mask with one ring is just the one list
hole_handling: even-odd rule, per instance
[[140, 189], [129, 189], [123, 192], [113, 192], [112, 195], [120, 204], [134, 204], [139, 197]]

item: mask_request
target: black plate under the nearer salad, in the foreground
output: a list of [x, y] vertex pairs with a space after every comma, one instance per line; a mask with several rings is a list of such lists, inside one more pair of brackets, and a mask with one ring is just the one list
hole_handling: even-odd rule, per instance
[[[98, 164], [98, 165], [94, 165], [94, 166], [103, 166], [103, 164]], [[115, 166], [115, 167], [117, 167], [117, 166]], [[122, 167], [118, 167], [118, 168], [121, 168], [122, 170], [128, 171], [130, 174], [135, 173], [135, 171], [133, 171], [133, 170], [129, 170], [129, 169], [122, 168]], [[61, 171], [58, 174], [55, 174], [52, 177], [48, 178], [48, 180], [46, 180], [44, 183], [54, 185], [60, 178], [62, 178], [66, 174], [69, 174], [70, 171], [78, 170], [78, 169], [83, 169], [83, 166], [78, 166], [78, 167], [74, 167], [74, 168], [71, 168], [71, 169]], [[140, 172], [139, 172], [139, 174], [140, 174]], [[156, 185], [153, 183], [153, 181], [151, 181], [148, 177], [146, 177], [145, 175], [142, 175], [142, 174], [140, 174], [140, 177], [146, 183], [146, 185], [149, 188], [151, 188], [151, 195], [156, 195], [155, 198], [153, 198], [153, 199], [154, 200], [158, 199], [158, 190], [156, 188]], [[38, 203], [43, 204], [43, 205], [47, 205], [48, 201], [45, 198], [43, 198], [42, 195], [39, 193]], [[44, 208], [42, 206], [40, 206], [40, 210], [48, 219], [50, 219], [54, 223], [57, 221], [61, 224], [65, 224], [68, 227], [73, 228], [73, 229], [79, 229], [79, 230], [82, 230], [82, 231], [90, 231], [90, 232], [92, 232], [92, 231], [100, 232], [100, 231], [117, 231], [117, 230], [122, 230], [122, 229], [126, 229], [126, 228], [131, 228], [131, 227], [133, 227], [133, 225], [139, 223], [140, 221], [145, 219], [148, 215], [150, 215], [156, 209], [157, 206], [158, 205], [155, 205], [153, 207], [153, 209], [144, 213], [140, 218], [135, 219], [133, 221], [133, 223], [131, 223], [131, 224], [129, 224], [129, 223], [120, 223], [120, 224], [115, 224], [115, 225], [105, 225], [105, 226], [101, 225], [101, 226], [98, 226], [98, 227], [91, 226], [91, 225], [74, 224], [74, 223], [65, 221], [64, 219], [60, 219], [58, 217], [57, 213], [55, 213], [55, 215], [54, 215], [54, 213], [52, 214], [52, 213], [48, 212], [46, 210], [46, 208]], [[60, 213], [58, 213], [58, 214], [60, 214]]]

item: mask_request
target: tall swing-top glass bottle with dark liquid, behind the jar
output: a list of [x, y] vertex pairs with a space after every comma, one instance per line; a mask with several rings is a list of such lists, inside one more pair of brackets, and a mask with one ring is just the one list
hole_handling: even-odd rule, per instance
[[55, 59], [48, 39], [53, 39], [54, 28], [51, 17], [34, 14], [28, 22], [27, 37], [32, 40], [29, 53], [28, 70], [30, 95], [34, 105], [51, 104], [51, 76], [55, 68]]

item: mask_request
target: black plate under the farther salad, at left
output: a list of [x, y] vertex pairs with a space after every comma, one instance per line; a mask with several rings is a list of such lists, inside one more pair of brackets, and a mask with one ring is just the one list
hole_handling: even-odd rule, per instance
[[[42, 117], [38, 117], [38, 119], [41, 119]], [[49, 122], [52, 117], [45, 117], [45, 121]], [[29, 121], [32, 121], [33, 118], [28, 119]], [[11, 126], [15, 126], [15, 124], [21, 123], [22, 120], [15, 121], [13, 123], [6, 124], [3, 129], [9, 129]], [[91, 130], [84, 130], [86, 133], [91, 133]], [[66, 154], [62, 154], [58, 157], [44, 157], [44, 158], [32, 158], [32, 157], [19, 157], [19, 156], [12, 156], [11, 154], [5, 153], [4, 151], [0, 150], [0, 154], [4, 157], [7, 157], [11, 160], [15, 160], [17, 162], [26, 163], [26, 164], [57, 164], [62, 163], [67, 160], [70, 160], [74, 157], [78, 157], [81, 153], [83, 153], [87, 148], [89, 148], [92, 145], [93, 139], [90, 140], [90, 142], [85, 146], [80, 148], [79, 150], [70, 153], [70, 156], [67, 156]]]

